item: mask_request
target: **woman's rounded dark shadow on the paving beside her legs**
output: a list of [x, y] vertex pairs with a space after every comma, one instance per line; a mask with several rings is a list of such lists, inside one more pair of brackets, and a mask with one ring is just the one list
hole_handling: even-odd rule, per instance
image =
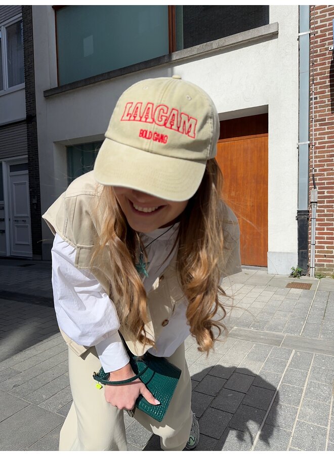
[[200, 429], [196, 450], [247, 451], [256, 445], [273, 449], [279, 403], [276, 385], [233, 365], [205, 368], [192, 381], [192, 409]]

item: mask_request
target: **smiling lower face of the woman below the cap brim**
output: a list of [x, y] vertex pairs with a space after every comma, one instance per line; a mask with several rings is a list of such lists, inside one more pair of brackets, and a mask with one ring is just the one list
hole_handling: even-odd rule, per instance
[[113, 187], [116, 199], [133, 230], [141, 233], [172, 225], [187, 201], [168, 201], [126, 187]]

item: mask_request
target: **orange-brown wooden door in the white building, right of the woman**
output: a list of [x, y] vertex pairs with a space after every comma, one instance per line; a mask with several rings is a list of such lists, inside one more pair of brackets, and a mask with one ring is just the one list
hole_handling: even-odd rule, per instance
[[240, 225], [241, 263], [267, 266], [268, 133], [221, 139], [223, 197]]

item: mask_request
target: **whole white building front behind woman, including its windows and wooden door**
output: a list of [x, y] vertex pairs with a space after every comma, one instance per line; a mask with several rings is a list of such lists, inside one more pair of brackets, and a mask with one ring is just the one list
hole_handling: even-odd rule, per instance
[[[296, 267], [298, 6], [33, 6], [32, 23], [42, 212], [90, 169], [119, 95], [179, 74], [217, 106], [242, 263], [271, 274]], [[42, 239], [47, 259], [46, 225]]]

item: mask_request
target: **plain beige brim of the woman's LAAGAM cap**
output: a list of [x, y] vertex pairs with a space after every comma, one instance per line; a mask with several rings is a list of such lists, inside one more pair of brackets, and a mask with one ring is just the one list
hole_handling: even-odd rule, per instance
[[106, 138], [94, 165], [103, 185], [129, 187], [169, 201], [189, 200], [197, 191], [206, 160], [153, 154]]

